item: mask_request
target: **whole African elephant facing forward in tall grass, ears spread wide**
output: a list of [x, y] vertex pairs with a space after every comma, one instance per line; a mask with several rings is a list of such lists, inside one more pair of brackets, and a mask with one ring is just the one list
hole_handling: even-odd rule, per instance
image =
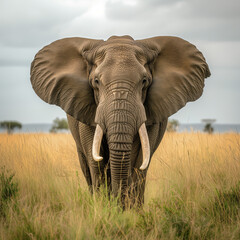
[[198, 99], [209, 76], [194, 45], [164, 36], [65, 38], [41, 49], [31, 65], [36, 94], [67, 113], [90, 189], [107, 182], [123, 204], [126, 196], [143, 203], [168, 117]]

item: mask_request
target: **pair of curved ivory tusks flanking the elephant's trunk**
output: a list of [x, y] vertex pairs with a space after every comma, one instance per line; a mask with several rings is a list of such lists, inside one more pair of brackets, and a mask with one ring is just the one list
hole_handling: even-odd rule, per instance
[[[143, 123], [140, 126], [138, 133], [141, 141], [142, 155], [143, 155], [143, 162], [140, 167], [140, 170], [145, 170], [148, 167], [148, 164], [150, 161], [150, 145], [149, 145], [149, 139], [148, 139], [145, 123]], [[96, 130], [94, 133], [94, 138], [93, 138], [93, 146], [92, 146], [92, 156], [93, 156], [93, 159], [97, 162], [103, 160], [103, 157], [100, 156], [100, 147], [101, 147], [102, 138], [103, 138], [103, 130], [100, 127], [100, 125], [97, 124]]]

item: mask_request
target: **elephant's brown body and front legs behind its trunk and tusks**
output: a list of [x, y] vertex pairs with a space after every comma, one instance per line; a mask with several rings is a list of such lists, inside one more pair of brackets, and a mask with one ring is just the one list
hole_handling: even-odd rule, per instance
[[[105, 183], [107, 183], [109, 190], [111, 190], [111, 173], [107, 139], [103, 138], [101, 146], [101, 155], [103, 156], [103, 161], [96, 162], [92, 157], [92, 143], [95, 127], [81, 123], [70, 115], [67, 115], [67, 118], [70, 131], [76, 142], [80, 166], [90, 188], [90, 191], [93, 191], [93, 188], [98, 188], [101, 184]], [[150, 158], [159, 146], [165, 133], [166, 126], [167, 120], [163, 121], [162, 123], [153, 124], [147, 127], [151, 149]], [[131, 191], [132, 194], [135, 195], [132, 198], [133, 201], [138, 202], [138, 205], [142, 205], [144, 202], [147, 170], [139, 170], [142, 164], [142, 152], [138, 135], [135, 136], [133, 141], [130, 162], [131, 173], [129, 174], [128, 181], [134, 183]]]

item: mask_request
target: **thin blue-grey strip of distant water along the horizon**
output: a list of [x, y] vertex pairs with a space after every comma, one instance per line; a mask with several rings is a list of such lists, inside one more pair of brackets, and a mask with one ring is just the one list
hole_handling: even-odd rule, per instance
[[[22, 129], [14, 130], [15, 133], [36, 133], [36, 132], [49, 132], [52, 124], [23, 124]], [[224, 133], [224, 132], [238, 132], [240, 133], [240, 124], [213, 124], [215, 133]], [[200, 131], [204, 129], [204, 123], [196, 124], [180, 124], [178, 127], [178, 132], [191, 132], [191, 131]], [[0, 128], [0, 132], [4, 132], [4, 129]]]

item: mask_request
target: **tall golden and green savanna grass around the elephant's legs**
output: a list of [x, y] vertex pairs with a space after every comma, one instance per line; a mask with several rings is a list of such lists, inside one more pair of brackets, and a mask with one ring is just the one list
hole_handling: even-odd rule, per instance
[[0, 134], [0, 239], [240, 239], [240, 134], [167, 133], [143, 209], [91, 196], [70, 134]]

